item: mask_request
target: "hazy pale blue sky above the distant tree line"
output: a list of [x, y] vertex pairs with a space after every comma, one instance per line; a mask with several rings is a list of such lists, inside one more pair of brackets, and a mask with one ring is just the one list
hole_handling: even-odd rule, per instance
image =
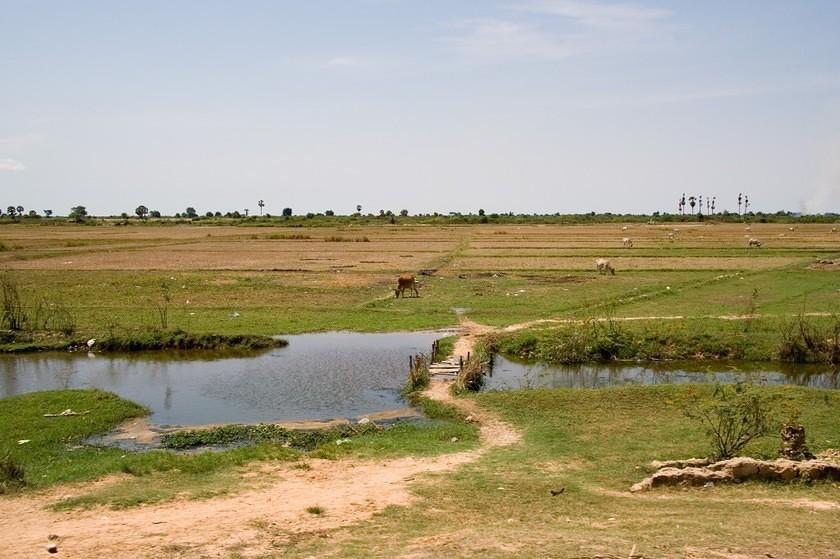
[[0, 206], [840, 211], [840, 1], [0, 0]]

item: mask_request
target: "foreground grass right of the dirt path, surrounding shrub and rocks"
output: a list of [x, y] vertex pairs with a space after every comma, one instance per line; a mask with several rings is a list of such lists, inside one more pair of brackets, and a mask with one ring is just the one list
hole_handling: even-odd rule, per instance
[[[683, 408], [708, 386], [524, 390], [473, 396], [524, 432], [445, 479], [421, 484], [421, 501], [330, 533], [283, 539], [266, 557], [830, 557], [836, 483], [749, 482], [630, 494], [654, 459], [704, 456], [703, 429]], [[816, 452], [840, 439], [840, 396], [763, 388], [801, 409]], [[746, 454], [769, 457], [776, 437]], [[807, 503], [815, 503], [809, 507]], [[823, 508], [818, 505], [826, 503]]]

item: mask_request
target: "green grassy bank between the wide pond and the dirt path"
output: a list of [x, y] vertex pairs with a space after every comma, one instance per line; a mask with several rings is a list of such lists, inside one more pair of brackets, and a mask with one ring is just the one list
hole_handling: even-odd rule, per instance
[[[234, 490], [242, 483], [240, 467], [258, 460], [438, 454], [476, 443], [475, 428], [457, 414], [436, 404], [418, 403], [428, 411], [430, 419], [426, 423], [305, 433], [262, 426], [266, 436], [254, 436], [260, 429], [255, 426], [234, 426], [173, 436], [173, 448], [248, 443], [222, 452], [185, 455], [168, 451], [126, 452], [84, 444], [92, 435], [147, 413], [143, 407], [114, 394], [64, 390], [13, 396], [0, 400], [0, 476], [5, 476], [0, 479], [0, 487], [3, 492], [16, 492], [108, 474], [128, 474], [121, 483], [62, 501], [58, 506], [133, 506], [176, 495], [208, 497]], [[80, 415], [44, 417], [67, 409]], [[457, 445], [451, 442], [453, 437], [458, 438]], [[289, 447], [286, 443], [292, 438], [299, 444]], [[349, 440], [336, 445], [339, 438]]]

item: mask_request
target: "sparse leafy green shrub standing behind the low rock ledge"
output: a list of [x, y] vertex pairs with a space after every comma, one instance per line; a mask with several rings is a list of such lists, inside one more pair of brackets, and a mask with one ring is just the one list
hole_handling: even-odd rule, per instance
[[711, 438], [712, 458], [737, 455], [748, 443], [778, 431], [781, 404], [777, 398], [745, 384], [716, 385], [710, 398], [695, 397], [685, 409]]

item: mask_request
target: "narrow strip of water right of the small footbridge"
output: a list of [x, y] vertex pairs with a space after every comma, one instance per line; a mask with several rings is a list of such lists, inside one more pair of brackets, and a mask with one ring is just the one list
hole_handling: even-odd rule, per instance
[[519, 388], [602, 388], [626, 384], [752, 382], [840, 388], [840, 373], [819, 365], [779, 363], [605, 363], [545, 365], [496, 355], [484, 390]]

